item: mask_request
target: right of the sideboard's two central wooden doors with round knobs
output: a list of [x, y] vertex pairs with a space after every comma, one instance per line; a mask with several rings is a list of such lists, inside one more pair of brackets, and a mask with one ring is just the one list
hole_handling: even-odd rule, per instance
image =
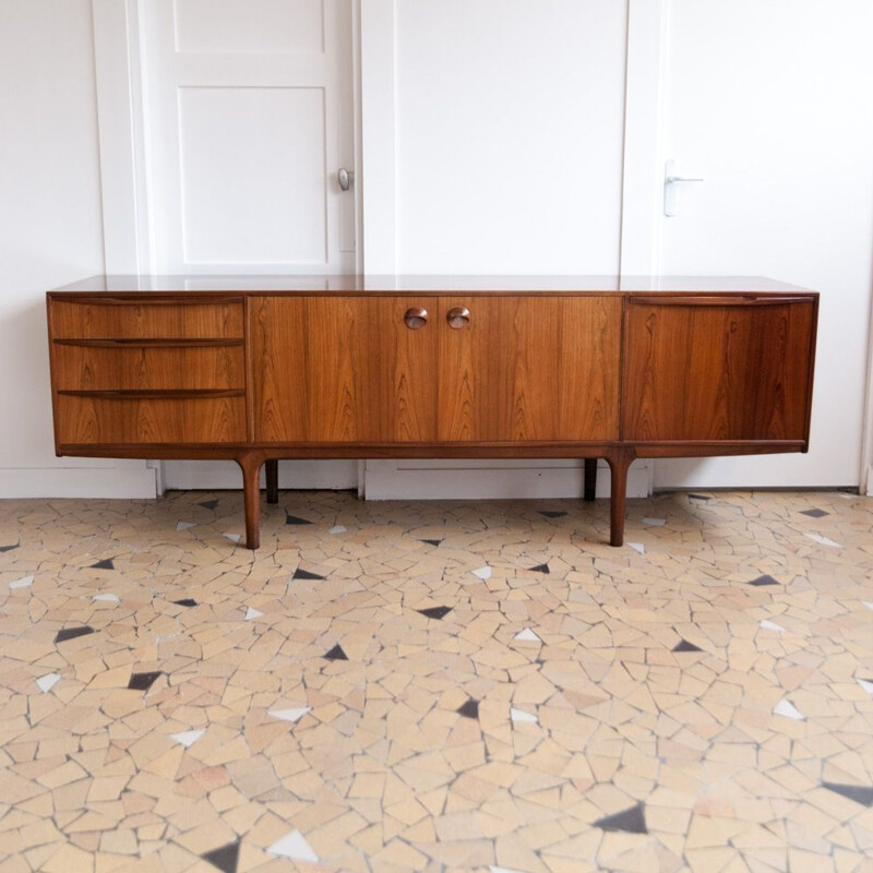
[[439, 326], [441, 441], [618, 439], [619, 297], [446, 297]]

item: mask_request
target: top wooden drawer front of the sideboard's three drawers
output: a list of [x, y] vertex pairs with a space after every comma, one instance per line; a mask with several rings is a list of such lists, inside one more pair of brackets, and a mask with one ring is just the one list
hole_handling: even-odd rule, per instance
[[73, 302], [51, 299], [55, 338], [242, 337], [242, 303]]

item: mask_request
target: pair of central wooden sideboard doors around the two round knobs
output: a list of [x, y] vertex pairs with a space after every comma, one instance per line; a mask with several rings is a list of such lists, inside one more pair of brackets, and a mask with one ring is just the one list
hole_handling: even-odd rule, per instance
[[[618, 439], [621, 300], [262, 297], [261, 442]], [[429, 309], [410, 330], [405, 312]], [[466, 306], [466, 327], [450, 327]], [[261, 384], [263, 383], [263, 384]]]

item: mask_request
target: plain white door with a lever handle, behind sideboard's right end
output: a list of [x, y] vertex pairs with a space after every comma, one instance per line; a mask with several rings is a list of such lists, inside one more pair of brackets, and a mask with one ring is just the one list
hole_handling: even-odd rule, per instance
[[873, 3], [672, 0], [660, 273], [821, 291], [808, 455], [658, 461], [656, 487], [856, 486], [873, 266]]

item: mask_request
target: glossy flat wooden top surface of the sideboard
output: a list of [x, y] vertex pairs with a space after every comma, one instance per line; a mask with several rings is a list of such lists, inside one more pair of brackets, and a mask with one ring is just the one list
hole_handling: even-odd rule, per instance
[[53, 294], [814, 294], [762, 276], [97, 275]]

